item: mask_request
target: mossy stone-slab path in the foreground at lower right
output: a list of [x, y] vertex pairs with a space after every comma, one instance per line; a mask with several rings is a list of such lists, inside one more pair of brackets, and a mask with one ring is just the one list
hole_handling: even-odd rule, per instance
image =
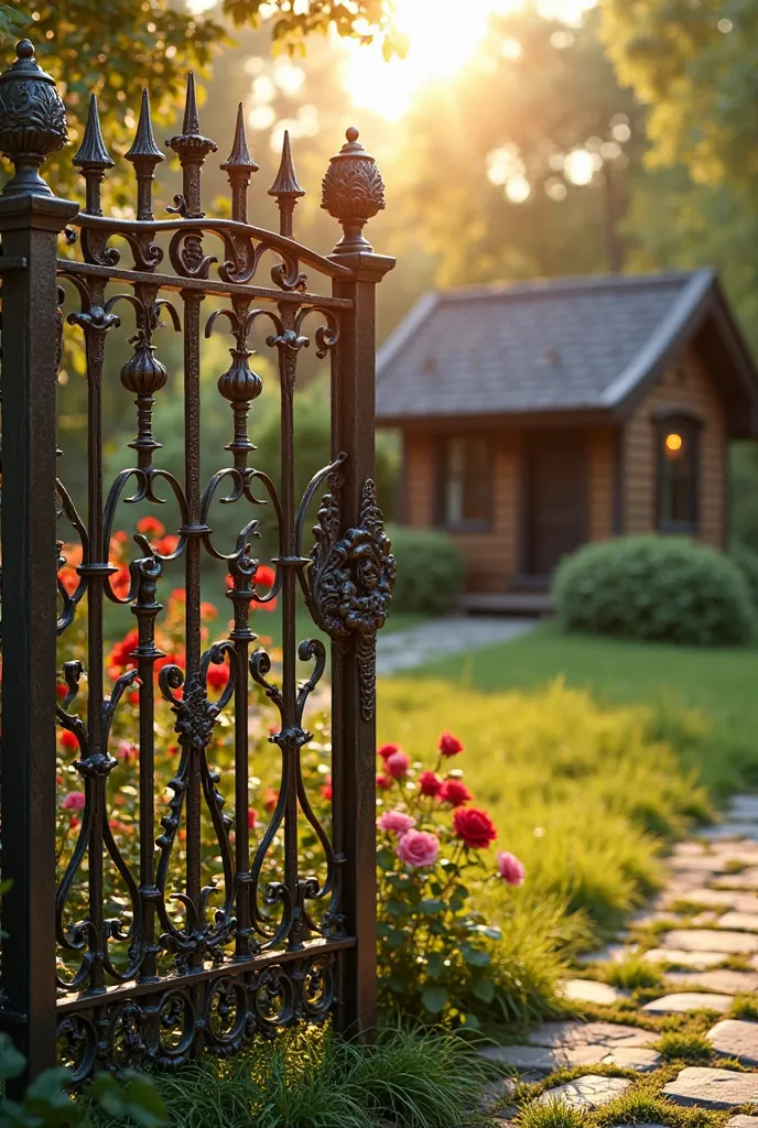
[[758, 796], [680, 843], [662, 893], [576, 976], [562, 984], [576, 1017], [482, 1051], [503, 1070], [485, 1094], [492, 1123], [557, 1102], [590, 1125], [610, 1105], [612, 1128], [679, 1126], [685, 1108], [758, 1128]]

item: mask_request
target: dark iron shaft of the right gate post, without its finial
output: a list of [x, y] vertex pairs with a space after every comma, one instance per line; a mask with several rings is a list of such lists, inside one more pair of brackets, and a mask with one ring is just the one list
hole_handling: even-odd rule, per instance
[[[342, 319], [332, 370], [333, 455], [345, 451], [341, 467], [341, 528], [360, 523], [361, 491], [373, 476], [376, 285], [394, 259], [365, 252], [335, 254], [355, 277], [335, 279], [334, 294], [353, 302]], [[344, 953], [343, 995], [337, 1014], [341, 1030], [368, 1033], [377, 1019], [377, 885], [376, 885], [376, 722], [361, 715], [361, 687], [355, 638], [332, 647], [333, 796], [335, 855], [344, 848], [345, 927], [356, 937]], [[337, 812], [338, 808], [338, 812]]]

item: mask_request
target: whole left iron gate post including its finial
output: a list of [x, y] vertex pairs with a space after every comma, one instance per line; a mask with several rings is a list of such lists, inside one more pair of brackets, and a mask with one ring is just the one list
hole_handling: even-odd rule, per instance
[[[0, 77], [0, 146], [16, 175], [2, 237], [2, 1010], [29, 1077], [55, 1064], [56, 243], [78, 205], [37, 174], [65, 141], [28, 41]], [[6, 98], [6, 95], [9, 95]], [[21, 95], [21, 97], [19, 97]], [[25, 98], [26, 100], [25, 100]], [[17, 107], [21, 106], [19, 111]], [[26, 111], [27, 116], [24, 116]]]

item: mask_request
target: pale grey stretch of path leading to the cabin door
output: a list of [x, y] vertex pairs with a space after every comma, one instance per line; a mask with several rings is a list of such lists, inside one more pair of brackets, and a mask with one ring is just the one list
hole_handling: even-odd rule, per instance
[[509, 618], [505, 615], [449, 615], [408, 627], [407, 631], [390, 634], [380, 631], [377, 636], [377, 673], [409, 670], [437, 658], [508, 642], [532, 631], [536, 625], [536, 619]]

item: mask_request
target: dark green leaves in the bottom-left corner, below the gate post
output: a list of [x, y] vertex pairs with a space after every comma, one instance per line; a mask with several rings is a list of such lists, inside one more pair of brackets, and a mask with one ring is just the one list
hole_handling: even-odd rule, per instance
[[[0, 1033], [0, 1082], [20, 1076], [25, 1064], [10, 1037]], [[90, 1128], [86, 1105], [67, 1091], [70, 1079], [68, 1069], [46, 1069], [28, 1086], [20, 1104], [1, 1098], [0, 1123], [3, 1128]], [[112, 1074], [100, 1074], [92, 1085], [91, 1107], [138, 1128], [164, 1128], [168, 1113], [152, 1079], [127, 1069], [122, 1081], [123, 1085]]]

